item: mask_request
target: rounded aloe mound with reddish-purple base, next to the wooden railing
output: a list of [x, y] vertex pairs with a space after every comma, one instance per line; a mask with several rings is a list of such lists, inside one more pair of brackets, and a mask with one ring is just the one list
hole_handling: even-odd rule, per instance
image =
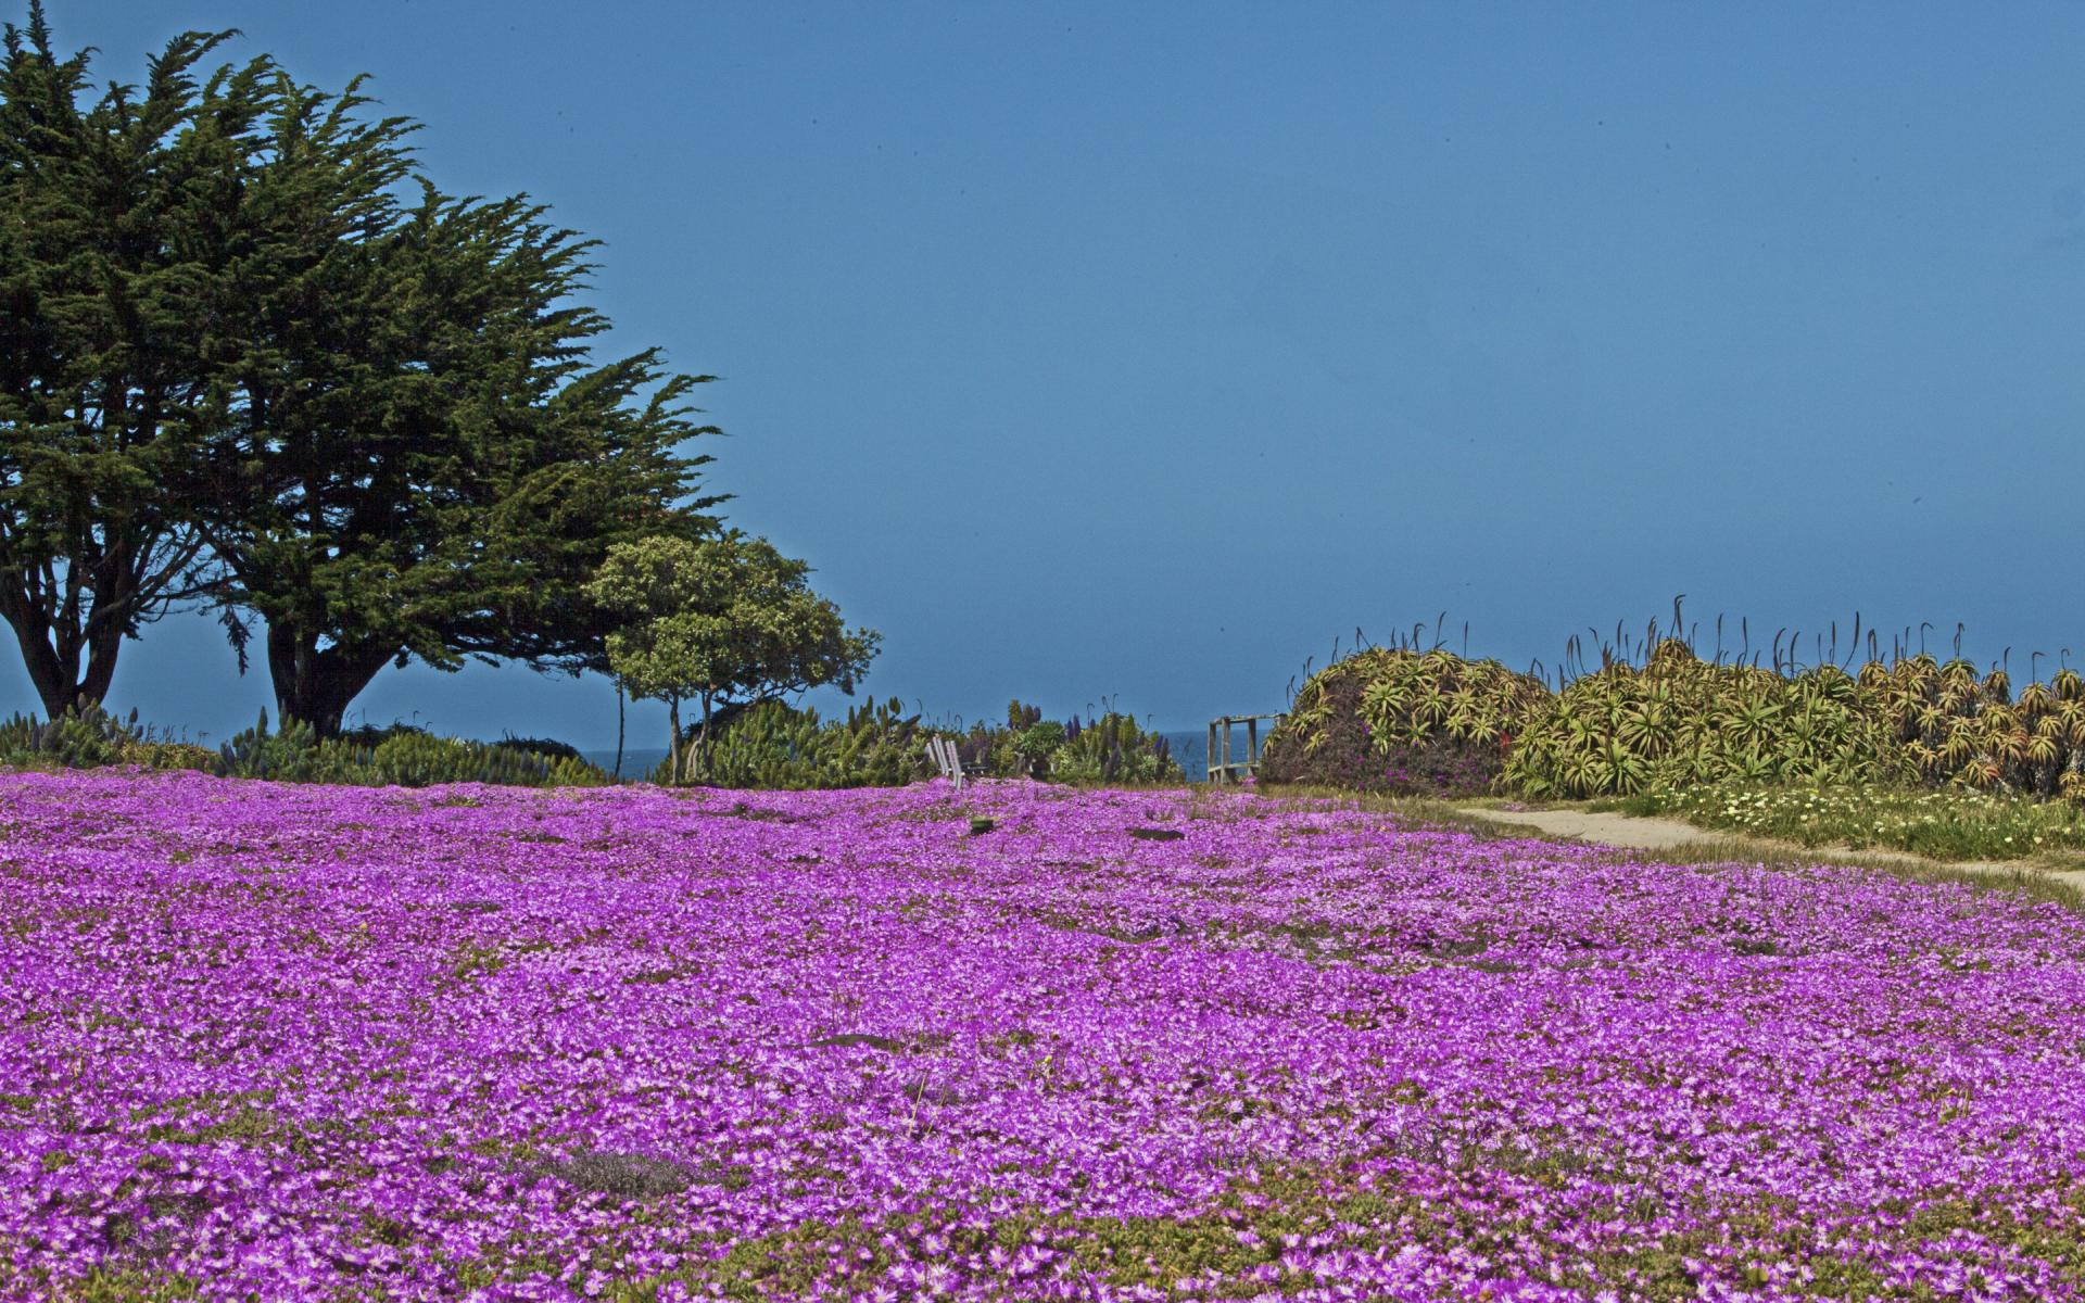
[[1268, 736], [1266, 782], [1470, 796], [1543, 717], [1541, 680], [1447, 650], [1370, 648], [1318, 671]]

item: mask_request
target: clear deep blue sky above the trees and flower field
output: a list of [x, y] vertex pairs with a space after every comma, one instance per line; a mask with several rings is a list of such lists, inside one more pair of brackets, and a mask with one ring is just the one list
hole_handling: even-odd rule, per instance
[[[934, 715], [1191, 728], [1278, 709], [1357, 625], [1447, 611], [1553, 663], [1681, 592], [2085, 659], [2079, 6], [52, 21], [102, 79], [183, 27], [369, 73], [444, 190], [600, 238], [615, 346], [723, 377], [732, 521], [882, 630], [867, 692]], [[200, 619], [113, 692], [213, 738], [265, 700]], [[31, 705], [8, 661], [0, 709]], [[615, 730], [605, 684], [519, 667], [384, 671], [357, 709]]]

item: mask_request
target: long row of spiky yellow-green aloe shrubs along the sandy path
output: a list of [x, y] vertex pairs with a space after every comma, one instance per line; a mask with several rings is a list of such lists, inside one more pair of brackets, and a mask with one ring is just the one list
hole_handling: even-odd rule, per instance
[[1447, 650], [1326, 667], [1268, 738], [1261, 776], [1359, 790], [1628, 796], [1720, 784], [1958, 786], [2085, 805], [2085, 680], [2012, 696], [1933, 657], [1779, 673], [1658, 642], [1562, 692]]

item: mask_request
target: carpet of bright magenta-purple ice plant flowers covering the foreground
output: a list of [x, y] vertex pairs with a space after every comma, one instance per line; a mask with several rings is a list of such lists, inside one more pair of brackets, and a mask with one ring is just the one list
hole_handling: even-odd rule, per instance
[[2085, 921], [1964, 886], [0, 776], [6, 1299], [2072, 1299], [2081, 1174]]

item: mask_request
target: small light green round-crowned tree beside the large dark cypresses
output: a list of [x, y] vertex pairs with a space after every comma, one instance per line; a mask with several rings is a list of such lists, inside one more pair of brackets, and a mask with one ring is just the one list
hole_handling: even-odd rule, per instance
[[[809, 573], [736, 530], [609, 548], [586, 594], [617, 621], [607, 636], [613, 673], [632, 696], [667, 703], [671, 782], [705, 773], [719, 711], [826, 684], [853, 692], [867, 671], [878, 634], [849, 630]], [[692, 765], [682, 703], [701, 707]]]

